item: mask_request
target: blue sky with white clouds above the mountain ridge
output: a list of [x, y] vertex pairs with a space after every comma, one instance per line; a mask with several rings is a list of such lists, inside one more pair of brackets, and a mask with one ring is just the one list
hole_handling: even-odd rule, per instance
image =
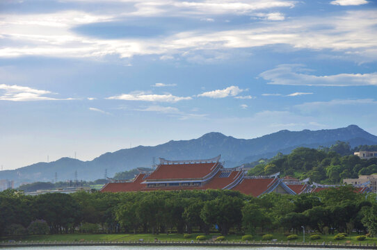
[[217, 131], [377, 135], [374, 0], [2, 0], [0, 165]]

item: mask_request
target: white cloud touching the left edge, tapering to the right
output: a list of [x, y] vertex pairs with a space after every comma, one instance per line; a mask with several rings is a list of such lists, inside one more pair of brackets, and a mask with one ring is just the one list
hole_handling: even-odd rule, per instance
[[[3, 91], [1, 91], [3, 90]], [[72, 100], [46, 97], [46, 94], [54, 94], [48, 90], [37, 90], [19, 85], [0, 84], [0, 100], [3, 101], [59, 101]]]

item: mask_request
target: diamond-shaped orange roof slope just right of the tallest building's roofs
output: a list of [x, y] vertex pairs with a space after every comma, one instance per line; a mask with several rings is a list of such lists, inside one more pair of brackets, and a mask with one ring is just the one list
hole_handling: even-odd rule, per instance
[[239, 185], [232, 190], [237, 190], [243, 194], [250, 194], [253, 197], [259, 197], [268, 190], [268, 188], [278, 181], [276, 178], [244, 178]]

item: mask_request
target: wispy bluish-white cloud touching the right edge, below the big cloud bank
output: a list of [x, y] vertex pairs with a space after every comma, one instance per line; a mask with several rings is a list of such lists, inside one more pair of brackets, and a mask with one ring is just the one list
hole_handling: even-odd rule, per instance
[[[377, 85], [377, 72], [369, 74], [335, 74], [315, 76], [307, 74], [303, 65], [278, 65], [260, 74], [268, 84], [309, 86], [361, 86]], [[304, 72], [304, 73], [303, 73]]]

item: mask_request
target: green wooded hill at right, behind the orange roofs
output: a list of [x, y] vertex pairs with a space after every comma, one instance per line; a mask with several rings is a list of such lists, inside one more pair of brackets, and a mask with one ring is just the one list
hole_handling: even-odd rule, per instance
[[[360, 149], [374, 146], [360, 146]], [[330, 148], [309, 149], [300, 147], [288, 155], [281, 153], [271, 160], [259, 163], [253, 167], [249, 175], [268, 175], [280, 172], [282, 176], [290, 175], [319, 183], [339, 183], [344, 178], [358, 178], [361, 174], [377, 173], [377, 158], [360, 159], [350, 155], [349, 144], [338, 142]]]

